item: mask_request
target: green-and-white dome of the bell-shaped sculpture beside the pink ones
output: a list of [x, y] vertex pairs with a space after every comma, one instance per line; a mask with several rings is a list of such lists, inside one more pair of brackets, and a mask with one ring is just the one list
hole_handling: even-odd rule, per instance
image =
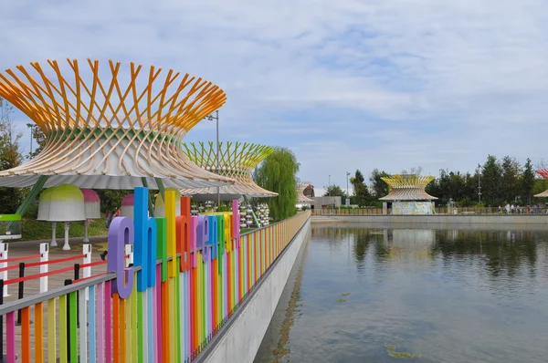
[[54, 188], [49, 201], [49, 222], [84, 221], [84, 194], [79, 187], [72, 184], [61, 184]]

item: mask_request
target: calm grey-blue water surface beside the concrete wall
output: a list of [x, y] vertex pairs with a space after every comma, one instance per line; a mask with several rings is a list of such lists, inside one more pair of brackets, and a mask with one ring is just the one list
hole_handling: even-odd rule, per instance
[[312, 224], [256, 363], [547, 362], [548, 230], [481, 228]]

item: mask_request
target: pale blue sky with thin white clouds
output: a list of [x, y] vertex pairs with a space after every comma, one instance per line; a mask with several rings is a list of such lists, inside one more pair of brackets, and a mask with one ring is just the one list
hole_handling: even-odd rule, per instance
[[[220, 139], [290, 148], [318, 188], [548, 157], [546, 0], [0, 0], [0, 49], [2, 72], [90, 57], [210, 80]], [[204, 120], [184, 140], [215, 138]]]

